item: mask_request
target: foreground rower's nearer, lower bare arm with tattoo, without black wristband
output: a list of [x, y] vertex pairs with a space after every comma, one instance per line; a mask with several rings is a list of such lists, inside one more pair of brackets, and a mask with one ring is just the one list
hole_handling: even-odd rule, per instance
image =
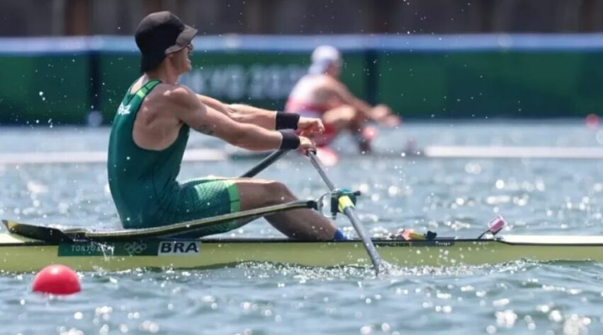
[[[222, 112], [204, 105], [198, 96], [185, 86], [179, 86], [166, 95], [170, 110], [191, 127], [206, 135], [216, 136], [233, 146], [249, 150], [273, 150], [281, 145], [282, 135], [254, 124], [235, 122]], [[314, 144], [300, 136], [300, 148], [308, 150]]]

